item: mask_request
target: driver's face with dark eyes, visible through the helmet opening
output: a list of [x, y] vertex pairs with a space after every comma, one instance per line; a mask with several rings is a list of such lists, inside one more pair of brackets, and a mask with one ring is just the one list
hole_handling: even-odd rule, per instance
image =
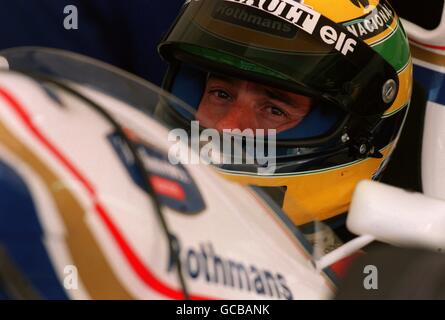
[[276, 129], [298, 125], [312, 108], [306, 96], [257, 83], [211, 75], [198, 107], [197, 119], [206, 128]]

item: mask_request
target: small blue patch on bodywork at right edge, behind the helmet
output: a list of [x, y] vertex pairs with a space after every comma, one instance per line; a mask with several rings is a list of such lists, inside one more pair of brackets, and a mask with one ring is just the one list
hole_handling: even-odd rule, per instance
[[419, 65], [414, 65], [414, 78], [428, 92], [428, 100], [445, 105], [445, 74]]

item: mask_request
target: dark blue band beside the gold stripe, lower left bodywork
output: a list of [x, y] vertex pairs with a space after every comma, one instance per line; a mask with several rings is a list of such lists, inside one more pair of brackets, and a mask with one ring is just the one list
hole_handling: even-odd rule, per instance
[[23, 179], [0, 161], [0, 244], [44, 299], [67, 299], [48, 253], [32, 196]]

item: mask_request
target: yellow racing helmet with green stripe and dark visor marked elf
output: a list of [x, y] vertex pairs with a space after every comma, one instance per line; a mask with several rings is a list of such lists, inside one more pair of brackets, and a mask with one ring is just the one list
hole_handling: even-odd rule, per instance
[[[386, 0], [186, 1], [158, 49], [164, 89], [196, 109], [209, 74], [311, 98], [304, 119], [276, 134], [273, 173], [218, 166], [269, 191], [297, 225], [347, 212], [356, 184], [381, 176], [409, 108], [409, 44]], [[158, 114], [196, 119], [168, 105]]]

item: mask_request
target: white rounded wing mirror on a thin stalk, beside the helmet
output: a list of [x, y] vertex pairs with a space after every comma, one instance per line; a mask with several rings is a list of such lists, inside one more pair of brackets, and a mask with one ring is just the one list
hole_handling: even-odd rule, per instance
[[[420, 217], [419, 217], [420, 216]], [[361, 182], [348, 229], [398, 246], [445, 248], [445, 201], [378, 182]]]

